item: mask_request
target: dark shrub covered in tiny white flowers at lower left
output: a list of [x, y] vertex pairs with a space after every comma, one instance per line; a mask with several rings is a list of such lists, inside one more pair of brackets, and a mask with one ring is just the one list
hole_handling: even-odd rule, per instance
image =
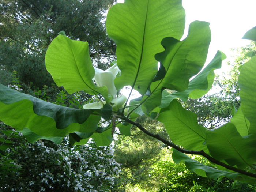
[[[0, 137], [7, 136], [1, 132]], [[0, 162], [14, 168], [0, 166], [0, 191], [105, 192], [113, 188], [120, 172], [111, 146], [97, 147], [89, 142], [70, 149], [46, 140], [33, 144], [21, 137], [9, 140], [14, 143], [0, 150]]]

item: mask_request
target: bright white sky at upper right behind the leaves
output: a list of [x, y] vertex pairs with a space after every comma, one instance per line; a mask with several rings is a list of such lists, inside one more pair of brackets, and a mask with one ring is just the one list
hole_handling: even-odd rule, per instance
[[[118, 0], [123, 3], [124, 0]], [[243, 35], [256, 26], [256, 0], [183, 0], [186, 11], [185, 35], [188, 33], [189, 23], [194, 20], [210, 23], [212, 40], [206, 64], [215, 56], [217, 50], [226, 54], [227, 59], [222, 63], [222, 69], [216, 71], [221, 74], [225, 71], [227, 61], [232, 61], [231, 48], [245, 46], [250, 41], [242, 39]]]

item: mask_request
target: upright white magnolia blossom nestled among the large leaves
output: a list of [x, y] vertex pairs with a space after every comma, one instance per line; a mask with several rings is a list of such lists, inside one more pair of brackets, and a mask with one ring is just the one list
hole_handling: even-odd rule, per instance
[[116, 75], [121, 75], [121, 71], [118, 68], [117, 64], [114, 64], [112, 67], [106, 69], [105, 71], [94, 67], [95, 75], [92, 79], [95, 81], [97, 86], [102, 87], [106, 86], [108, 88], [108, 94], [112, 95], [113, 98], [116, 98], [117, 90], [114, 85], [114, 79]]

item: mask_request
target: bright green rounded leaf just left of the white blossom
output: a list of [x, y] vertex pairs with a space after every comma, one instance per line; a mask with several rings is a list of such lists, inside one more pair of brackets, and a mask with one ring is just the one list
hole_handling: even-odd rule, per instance
[[64, 35], [58, 35], [49, 45], [45, 55], [45, 65], [58, 86], [63, 86], [68, 93], [85, 91], [88, 94], [101, 94], [106, 101], [106, 86], [97, 87], [92, 78], [95, 75], [90, 59], [88, 42], [74, 41]]

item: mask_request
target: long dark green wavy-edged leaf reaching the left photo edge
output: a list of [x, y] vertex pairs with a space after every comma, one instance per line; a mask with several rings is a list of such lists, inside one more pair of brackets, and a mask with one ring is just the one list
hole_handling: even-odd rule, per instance
[[64, 137], [74, 131], [93, 132], [101, 120], [95, 110], [55, 105], [0, 84], [0, 120], [17, 130], [29, 128], [44, 137]]

